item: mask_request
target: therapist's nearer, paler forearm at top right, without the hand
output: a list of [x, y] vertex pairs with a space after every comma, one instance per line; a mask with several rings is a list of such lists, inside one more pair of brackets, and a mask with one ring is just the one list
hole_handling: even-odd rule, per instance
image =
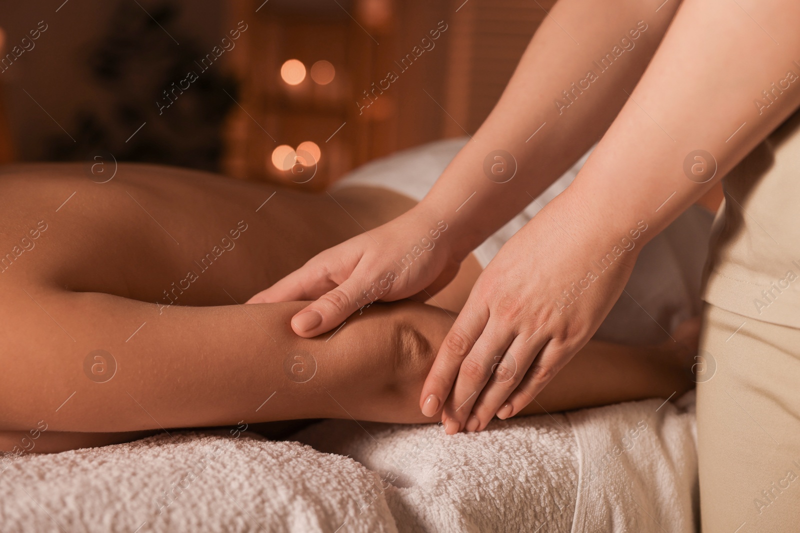
[[[565, 210], [555, 213], [618, 237], [645, 221], [644, 241], [654, 237], [798, 108], [798, 25], [800, 5], [788, 0], [685, 0], [574, 181], [575, 202], [560, 202]], [[696, 150], [716, 161], [706, 183], [697, 182], [710, 174]]]

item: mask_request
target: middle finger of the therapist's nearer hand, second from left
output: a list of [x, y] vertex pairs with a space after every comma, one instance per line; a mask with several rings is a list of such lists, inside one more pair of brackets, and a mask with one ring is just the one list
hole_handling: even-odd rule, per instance
[[447, 429], [453, 429], [455, 423], [460, 431], [465, 427], [472, 406], [478, 400], [483, 388], [492, 375], [494, 361], [502, 357], [514, 340], [514, 332], [503, 327], [498, 319], [489, 317], [486, 328], [475, 341], [458, 369], [453, 390], [445, 402], [442, 420], [447, 420]]

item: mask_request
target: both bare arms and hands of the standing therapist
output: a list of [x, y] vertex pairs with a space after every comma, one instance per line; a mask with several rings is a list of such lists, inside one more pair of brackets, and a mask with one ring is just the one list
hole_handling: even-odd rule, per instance
[[[418, 206], [370, 238], [326, 250], [258, 297], [318, 298], [292, 324], [300, 336], [326, 332], [392, 268], [387, 257], [402, 257], [434, 221], [446, 220], [453, 231], [438, 254], [382, 298], [430, 292], [602, 135], [574, 183], [482, 272], [442, 343], [419, 406], [449, 422], [448, 432], [465, 428], [470, 416], [480, 430], [495, 414], [514, 416], [538, 396], [602, 323], [641, 247], [614, 261], [567, 308], [563, 291], [640, 224], [648, 229], [639, 242], [650, 241], [800, 105], [796, 84], [768, 107], [754, 105], [787, 70], [798, 72], [797, 2], [684, 0], [657, 11], [647, 2], [561, 0], [549, 15], [490, 116]], [[641, 33], [635, 47], [563, 109], [562, 90], [586, 78], [586, 70], [600, 70], [594, 61], [623, 35], [633, 39], [634, 28]], [[554, 105], [556, 98], [562, 105]], [[484, 173], [496, 149], [518, 165], [506, 183]], [[702, 183], [708, 173], [693, 180], [684, 171], [685, 161], [698, 162], [690, 156], [696, 149], [716, 162], [713, 178]], [[498, 358], [522, 369], [513, 382], [490, 380]]]

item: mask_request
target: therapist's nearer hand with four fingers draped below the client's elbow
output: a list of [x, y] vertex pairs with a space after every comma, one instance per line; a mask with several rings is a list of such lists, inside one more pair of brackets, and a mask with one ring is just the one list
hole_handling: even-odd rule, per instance
[[[495, 414], [506, 419], [534, 400], [594, 334], [630, 277], [646, 231], [634, 240], [635, 224], [634, 233], [610, 227], [610, 213], [604, 227], [566, 196], [506, 242], [439, 348], [420, 408], [433, 416], [444, 401], [448, 434], [480, 431]], [[602, 271], [606, 254], [613, 264]]]

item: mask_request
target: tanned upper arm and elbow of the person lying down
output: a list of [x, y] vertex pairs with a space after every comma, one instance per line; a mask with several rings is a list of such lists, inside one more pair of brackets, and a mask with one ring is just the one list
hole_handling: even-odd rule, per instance
[[425, 339], [450, 324], [430, 306], [376, 305], [335, 335], [302, 339], [289, 319], [303, 302], [159, 312], [119, 296], [26, 291], [3, 295], [0, 431], [39, 420], [50, 432], [403, 421], [394, 410], [404, 403], [405, 420], [421, 420], [400, 384], [415, 376], [418, 394], [434, 353]]

